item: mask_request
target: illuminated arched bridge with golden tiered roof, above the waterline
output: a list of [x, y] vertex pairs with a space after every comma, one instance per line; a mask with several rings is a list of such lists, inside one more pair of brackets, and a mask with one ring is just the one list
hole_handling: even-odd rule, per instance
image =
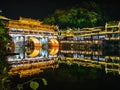
[[[39, 20], [23, 17], [20, 17], [19, 20], [9, 20], [6, 26], [12, 38], [9, 48], [11, 53], [14, 53], [17, 47], [25, 46], [24, 49], [37, 47], [37, 49], [40, 49], [47, 46], [59, 46], [57, 26], [45, 25]], [[37, 56], [37, 49], [29, 57]]]

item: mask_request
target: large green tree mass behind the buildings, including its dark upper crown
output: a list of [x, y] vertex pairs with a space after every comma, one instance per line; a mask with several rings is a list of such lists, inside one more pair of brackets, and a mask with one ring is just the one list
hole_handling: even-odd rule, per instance
[[84, 28], [103, 25], [105, 20], [102, 10], [95, 2], [84, 2], [83, 5], [69, 10], [56, 10], [51, 16], [44, 19], [44, 23], [59, 25], [62, 29]]

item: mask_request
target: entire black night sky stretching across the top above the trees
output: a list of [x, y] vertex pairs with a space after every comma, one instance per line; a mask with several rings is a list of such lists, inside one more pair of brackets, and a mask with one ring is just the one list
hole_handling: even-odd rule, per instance
[[[2, 10], [4, 16], [11, 19], [18, 19], [20, 16], [43, 19], [52, 14], [56, 9], [73, 7], [79, 5], [81, 1], [85, 0], [1, 0], [0, 10]], [[107, 7], [111, 16], [116, 18], [120, 16], [120, 6], [116, 0], [91, 1], [96, 1]]]

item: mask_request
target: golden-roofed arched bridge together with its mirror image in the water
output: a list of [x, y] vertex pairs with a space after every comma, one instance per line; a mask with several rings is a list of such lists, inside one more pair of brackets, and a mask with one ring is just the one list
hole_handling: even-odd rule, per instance
[[46, 68], [57, 68], [59, 50], [58, 27], [46, 25], [39, 20], [20, 17], [6, 23], [11, 39], [8, 56], [11, 64], [9, 75], [25, 77], [43, 72]]

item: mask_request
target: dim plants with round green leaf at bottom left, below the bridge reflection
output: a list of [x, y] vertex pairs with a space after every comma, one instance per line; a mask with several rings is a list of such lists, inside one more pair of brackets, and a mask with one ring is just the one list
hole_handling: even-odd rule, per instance
[[13, 90], [39, 90], [42, 89], [43, 86], [47, 86], [48, 82], [45, 78], [38, 77], [37, 75], [30, 77], [11, 77], [11, 89]]

